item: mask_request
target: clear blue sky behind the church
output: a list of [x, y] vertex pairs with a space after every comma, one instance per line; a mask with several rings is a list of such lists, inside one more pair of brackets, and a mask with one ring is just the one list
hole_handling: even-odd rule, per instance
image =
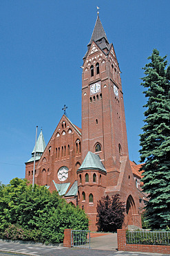
[[50, 140], [67, 104], [81, 127], [81, 68], [96, 6], [122, 71], [129, 158], [139, 161], [142, 67], [153, 48], [170, 60], [169, 0], [0, 1], [0, 181], [25, 176], [36, 125]]

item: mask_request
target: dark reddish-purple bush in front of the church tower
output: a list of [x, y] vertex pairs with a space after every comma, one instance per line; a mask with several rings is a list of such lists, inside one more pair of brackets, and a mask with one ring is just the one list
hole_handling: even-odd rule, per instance
[[120, 201], [120, 195], [103, 196], [97, 205], [98, 231], [116, 232], [122, 228], [125, 219], [125, 203]]

